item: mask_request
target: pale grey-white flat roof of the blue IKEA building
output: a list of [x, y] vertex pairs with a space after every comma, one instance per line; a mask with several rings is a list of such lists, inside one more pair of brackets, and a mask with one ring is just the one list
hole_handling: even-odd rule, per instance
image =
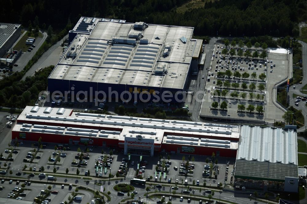
[[[80, 27], [84, 24], [88, 27]], [[49, 78], [183, 89], [192, 56], [202, 43], [191, 39], [193, 28], [135, 25], [143, 22], [81, 17], [73, 31], [76, 38]], [[142, 38], [136, 40], [138, 35]], [[114, 39], [126, 43], [112, 43]], [[71, 54], [75, 58], [67, 57]], [[167, 74], [157, 74], [163, 69]]]

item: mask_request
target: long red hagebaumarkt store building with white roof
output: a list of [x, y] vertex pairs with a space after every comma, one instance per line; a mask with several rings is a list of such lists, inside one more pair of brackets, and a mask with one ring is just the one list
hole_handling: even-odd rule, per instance
[[124, 154], [157, 152], [236, 157], [240, 126], [74, 112], [27, 106], [12, 130], [18, 141], [53, 142], [123, 149]]

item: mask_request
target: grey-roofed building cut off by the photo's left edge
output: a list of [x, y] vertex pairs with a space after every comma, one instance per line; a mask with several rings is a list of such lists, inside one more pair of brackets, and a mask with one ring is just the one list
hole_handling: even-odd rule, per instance
[[0, 62], [11, 63], [12, 59], [3, 56], [12, 47], [21, 33], [20, 24], [0, 23]]

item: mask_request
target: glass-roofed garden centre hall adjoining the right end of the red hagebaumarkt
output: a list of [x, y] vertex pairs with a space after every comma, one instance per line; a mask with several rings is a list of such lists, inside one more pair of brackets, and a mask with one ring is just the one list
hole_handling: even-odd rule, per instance
[[298, 191], [296, 126], [241, 126], [234, 187]]

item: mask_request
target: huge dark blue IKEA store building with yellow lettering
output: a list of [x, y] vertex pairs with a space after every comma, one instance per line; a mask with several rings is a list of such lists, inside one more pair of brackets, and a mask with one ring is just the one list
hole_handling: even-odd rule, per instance
[[193, 30], [81, 17], [48, 78], [48, 90], [72, 97], [82, 92], [75, 98], [87, 100], [103, 91], [108, 99], [125, 101], [161, 101], [165, 93], [167, 102], [183, 102], [189, 76], [204, 62], [202, 40], [192, 39]]

